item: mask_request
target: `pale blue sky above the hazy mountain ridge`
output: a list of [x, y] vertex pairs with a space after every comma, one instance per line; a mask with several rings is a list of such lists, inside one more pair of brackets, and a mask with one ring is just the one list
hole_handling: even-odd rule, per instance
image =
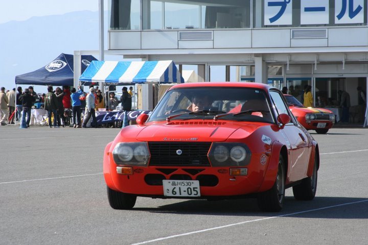
[[[107, 0], [104, 0], [104, 6], [107, 7]], [[0, 23], [81, 10], [98, 11], [98, 8], [99, 0], [4, 0], [0, 8]]]

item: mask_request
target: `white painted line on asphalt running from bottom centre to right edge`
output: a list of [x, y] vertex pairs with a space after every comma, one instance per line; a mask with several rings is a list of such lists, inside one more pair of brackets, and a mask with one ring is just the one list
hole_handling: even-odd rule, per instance
[[350, 205], [350, 204], [357, 204], [357, 203], [362, 203], [362, 202], [368, 202], [368, 199], [362, 200], [362, 201], [357, 201], [357, 202], [351, 202], [351, 203], [343, 203], [343, 204], [338, 204], [338, 205], [333, 205], [333, 206], [328, 206], [328, 207], [323, 207], [323, 208], [310, 209], [310, 210], [305, 210], [305, 211], [300, 211], [300, 212], [295, 212], [295, 213], [282, 214], [282, 215], [278, 215], [278, 216], [247, 220], [247, 221], [244, 221], [244, 222], [229, 224], [229, 225], [225, 225], [225, 226], [218, 226], [218, 227], [213, 227], [213, 228], [204, 229], [204, 230], [192, 231], [192, 232], [188, 232], [188, 233], [182, 233], [182, 234], [177, 234], [177, 235], [172, 235], [172, 236], [156, 238], [156, 239], [153, 239], [153, 240], [137, 242], [137, 243], [133, 243], [131, 245], [147, 244], [147, 243], [151, 243], [151, 242], [155, 242], [155, 241], [162, 241], [162, 240], [167, 240], [167, 239], [175, 238], [175, 237], [179, 237], [179, 236], [187, 236], [187, 235], [192, 235], [192, 234], [197, 234], [197, 233], [201, 233], [201, 232], [212, 231], [212, 230], [217, 230], [217, 229], [222, 229], [222, 228], [227, 228], [227, 227], [232, 227], [232, 226], [239, 226], [239, 225], [243, 225], [243, 224], [247, 224], [247, 223], [251, 223], [251, 222], [258, 222], [258, 221], [271, 219], [271, 218], [286, 217], [286, 216], [291, 216], [291, 215], [296, 215], [296, 214], [301, 214], [301, 213], [308, 213], [308, 212], [319, 211], [319, 210], [328, 209], [328, 208], [335, 208], [335, 207], [340, 207], [340, 206], [345, 206], [345, 205]]

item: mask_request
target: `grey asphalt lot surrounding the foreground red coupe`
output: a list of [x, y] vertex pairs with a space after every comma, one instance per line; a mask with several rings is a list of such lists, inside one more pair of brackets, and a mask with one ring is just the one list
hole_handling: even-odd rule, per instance
[[287, 189], [281, 212], [254, 199], [137, 198], [110, 208], [105, 145], [119, 129], [0, 127], [0, 244], [368, 244], [368, 129], [310, 131], [319, 143], [313, 201]]

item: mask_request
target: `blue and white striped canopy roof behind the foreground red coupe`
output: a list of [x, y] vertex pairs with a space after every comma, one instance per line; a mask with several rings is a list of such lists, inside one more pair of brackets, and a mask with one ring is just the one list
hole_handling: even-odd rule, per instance
[[108, 84], [184, 82], [172, 60], [92, 61], [79, 80]]

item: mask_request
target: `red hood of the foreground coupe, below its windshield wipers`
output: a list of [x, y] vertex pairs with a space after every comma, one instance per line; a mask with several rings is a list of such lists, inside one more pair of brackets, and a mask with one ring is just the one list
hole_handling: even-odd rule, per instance
[[[187, 122], [187, 121], [186, 121]], [[224, 122], [222, 125], [208, 125], [202, 121], [201, 125], [154, 124], [143, 128], [137, 133], [139, 141], [224, 141], [235, 134], [235, 138], [245, 138], [262, 124], [247, 124]], [[200, 122], [199, 122], [200, 123]], [[241, 135], [240, 135], [241, 134]]]

